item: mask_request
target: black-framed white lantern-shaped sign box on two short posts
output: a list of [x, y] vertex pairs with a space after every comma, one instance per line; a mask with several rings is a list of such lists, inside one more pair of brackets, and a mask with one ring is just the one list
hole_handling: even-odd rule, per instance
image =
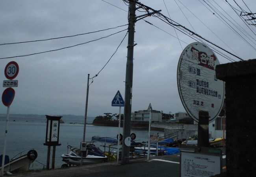
[[47, 125], [46, 125], [46, 136], [45, 144], [46, 146], [60, 146], [59, 144], [59, 121], [62, 116], [48, 116], [46, 115]]

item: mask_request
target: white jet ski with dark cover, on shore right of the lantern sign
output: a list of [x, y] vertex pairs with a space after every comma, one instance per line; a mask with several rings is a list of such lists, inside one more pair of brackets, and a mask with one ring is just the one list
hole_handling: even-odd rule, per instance
[[[81, 164], [81, 151], [77, 147], [73, 147], [67, 145], [69, 149], [68, 154], [61, 155], [62, 161], [66, 164], [63, 164], [61, 167], [68, 167], [68, 166], [77, 166]], [[93, 164], [93, 163], [101, 163], [108, 160], [108, 157], [104, 155], [104, 153], [96, 147], [94, 144], [87, 144], [87, 155], [83, 157], [83, 165], [86, 164]]]

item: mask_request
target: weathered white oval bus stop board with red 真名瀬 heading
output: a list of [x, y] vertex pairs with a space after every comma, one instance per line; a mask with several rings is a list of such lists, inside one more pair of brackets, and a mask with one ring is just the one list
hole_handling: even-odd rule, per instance
[[177, 85], [187, 113], [198, 122], [200, 110], [209, 112], [212, 122], [223, 107], [224, 82], [216, 78], [219, 61], [213, 51], [200, 42], [189, 44], [180, 55]]

